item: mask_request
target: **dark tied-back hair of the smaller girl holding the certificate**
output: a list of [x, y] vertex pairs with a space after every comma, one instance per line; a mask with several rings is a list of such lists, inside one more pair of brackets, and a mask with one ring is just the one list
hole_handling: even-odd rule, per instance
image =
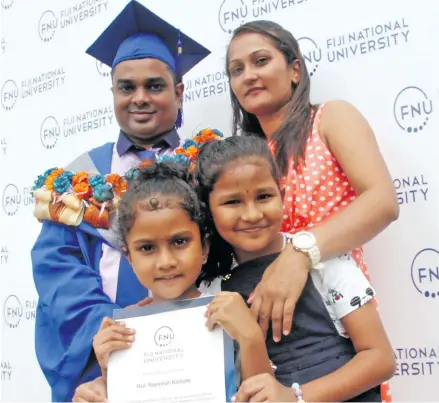
[[[122, 244], [126, 246], [126, 237], [134, 225], [138, 203], [152, 195], [181, 198], [180, 207], [192, 221], [198, 224], [201, 240], [204, 242], [206, 238], [205, 208], [198, 198], [194, 177], [189, 172], [189, 165], [172, 161], [153, 162], [140, 168], [136, 173], [135, 179], [129, 181], [129, 188], [122, 197], [118, 209], [118, 232]], [[152, 201], [148, 208], [163, 208], [163, 204], [154, 207]]]

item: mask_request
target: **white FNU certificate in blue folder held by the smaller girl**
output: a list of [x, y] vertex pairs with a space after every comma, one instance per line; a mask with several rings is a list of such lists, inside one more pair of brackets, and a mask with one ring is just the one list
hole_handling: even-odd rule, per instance
[[230, 402], [236, 392], [233, 340], [209, 331], [213, 297], [117, 309], [114, 320], [136, 330], [126, 350], [110, 355], [108, 400], [148, 403]]

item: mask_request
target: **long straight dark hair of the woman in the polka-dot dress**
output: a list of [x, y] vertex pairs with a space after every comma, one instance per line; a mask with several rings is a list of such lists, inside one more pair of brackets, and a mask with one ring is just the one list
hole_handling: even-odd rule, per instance
[[[300, 52], [299, 44], [291, 32], [272, 21], [252, 21], [237, 28], [233, 32], [230, 43], [245, 33], [257, 33], [270, 39], [273, 45], [285, 56], [287, 65], [292, 65], [295, 60], [300, 62], [300, 81], [296, 85], [291, 83], [293, 95], [288, 102], [285, 119], [279, 129], [271, 136], [276, 148], [276, 161], [280, 171], [285, 175], [291, 157], [293, 157], [296, 166], [300, 159], [305, 159], [306, 141], [312, 127], [312, 114], [316, 109], [316, 105], [312, 105], [310, 102], [310, 77], [305, 60]], [[229, 76], [230, 97], [233, 109], [232, 134], [236, 135], [239, 131], [242, 131], [244, 134], [252, 133], [265, 139], [266, 136], [257, 117], [244, 110], [232, 91], [228, 53], [227, 51], [226, 71]]]

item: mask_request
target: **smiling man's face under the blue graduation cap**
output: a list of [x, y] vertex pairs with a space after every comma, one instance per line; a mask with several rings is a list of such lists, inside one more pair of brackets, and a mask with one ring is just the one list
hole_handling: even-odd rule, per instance
[[119, 63], [113, 71], [114, 111], [120, 128], [135, 142], [148, 144], [171, 130], [183, 97], [172, 71], [160, 60]]

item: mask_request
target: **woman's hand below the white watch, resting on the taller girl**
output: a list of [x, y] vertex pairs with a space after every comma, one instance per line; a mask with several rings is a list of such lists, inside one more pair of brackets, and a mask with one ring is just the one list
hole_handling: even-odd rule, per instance
[[258, 319], [266, 334], [271, 319], [273, 340], [280, 341], [281, 334], [291, 332], [294, 309], [308, 279], [311, 261], [307, 255], [291, 245], [265, 270], [248, 302], [251, 312]]

